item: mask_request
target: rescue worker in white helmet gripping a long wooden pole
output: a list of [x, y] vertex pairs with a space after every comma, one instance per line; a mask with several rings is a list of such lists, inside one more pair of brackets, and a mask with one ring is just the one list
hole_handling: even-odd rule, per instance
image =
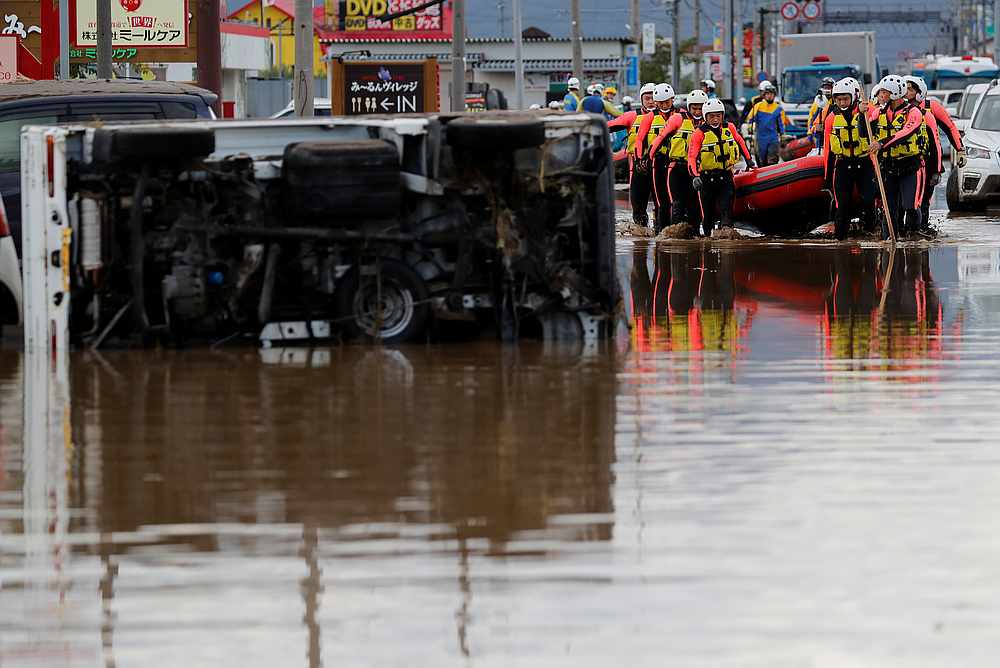
[[[878, 121], [870, 152], [881, 158], [885, 204], [896, 230], [905, 235], [920, 229], [927, 123], [920, 108], [907, 101], [900, 77], [887, 77], [882, 88], [888, 91], [889, 104], [869, 112], [869, 118], [875, 116]], [[883, 230], [883, 237], [887, 236], [888, 228]]]

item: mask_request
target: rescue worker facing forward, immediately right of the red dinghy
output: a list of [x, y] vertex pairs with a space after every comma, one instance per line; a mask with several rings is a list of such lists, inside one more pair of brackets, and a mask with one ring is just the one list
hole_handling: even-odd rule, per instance
[[874, 225], [875, 171], [868, 156], [871, 138], [863, 115], [867, 104], [860, 99], [858, 86], [852, 80], [841, 79], [830, 93], [833, 111], [823, 126], [823, 145], [827, 147], [823, 176], [836, 207], [834, 233], [838, 239], [846, 239], [855, 188], [861, 199], [862, 227], [867, 230]]

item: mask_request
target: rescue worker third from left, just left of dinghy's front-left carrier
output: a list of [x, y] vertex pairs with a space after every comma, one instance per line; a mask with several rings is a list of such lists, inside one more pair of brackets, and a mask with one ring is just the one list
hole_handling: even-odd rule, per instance
[[667, 152], [670, 224], [687, 222], [695, 230], [701, 224], [701, 216], [700, 209], [696, 205], [694, 189], [691, 187], [687, 157], [691, 135], [703, 122], [702, 107], [706, 102], [708, 96], [703, 91], [691, 91], [687, 96], [687, 111], [671, 116], [649, 149], [651, 156], [664, 149]]

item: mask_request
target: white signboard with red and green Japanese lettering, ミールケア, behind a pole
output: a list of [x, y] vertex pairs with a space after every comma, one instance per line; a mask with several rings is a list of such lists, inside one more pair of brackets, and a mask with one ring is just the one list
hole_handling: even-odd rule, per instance
[[[76, 46], [97, 46], [97, 3], [75, 3]], [[188, 45], [187, 0], [111, 0], [111, 42], [116, 47], [183, 48]]]

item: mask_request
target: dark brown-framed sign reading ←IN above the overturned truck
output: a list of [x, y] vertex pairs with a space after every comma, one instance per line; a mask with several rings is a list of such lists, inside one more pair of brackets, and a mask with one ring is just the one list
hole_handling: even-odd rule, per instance
[[405, 114], [438, 110], [438, 67], [421, 62], [333, 63], [335, 115]]

